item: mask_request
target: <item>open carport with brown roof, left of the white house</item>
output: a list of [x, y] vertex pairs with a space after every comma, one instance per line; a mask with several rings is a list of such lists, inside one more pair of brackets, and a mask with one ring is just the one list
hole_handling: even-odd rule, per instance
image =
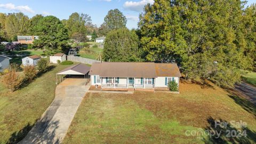
[[56, 74], [56, 84], [58, 85], [64, 79], [72, 77], [72, 78], [84, 78], [85, 85], [90, 81], [89, 71], [90, 66], [87, 66], [83, 63], [79, 63], [74, 66], [67, 67], [59, 73]]

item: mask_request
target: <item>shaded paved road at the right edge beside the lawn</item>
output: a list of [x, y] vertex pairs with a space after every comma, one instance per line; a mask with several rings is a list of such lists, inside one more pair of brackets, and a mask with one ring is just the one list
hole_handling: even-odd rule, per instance
[[256, 105], [256, 87], [250, 84], [242, 82], [241, 84], [236, 84], [234, 88], [237, 92], [243, 94], [243, 96], [250, 100], [254, 105]]

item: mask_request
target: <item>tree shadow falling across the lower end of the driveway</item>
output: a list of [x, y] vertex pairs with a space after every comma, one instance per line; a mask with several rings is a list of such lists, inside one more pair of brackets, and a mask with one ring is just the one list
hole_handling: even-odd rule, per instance
[[34, 124], [28, 123], [21, 130], [14, 132], [7, 143], [60, 143], [59, 138], [54, 139], [59, 121], [51, 121], [52, 117], [51, 111], [47, 111]]

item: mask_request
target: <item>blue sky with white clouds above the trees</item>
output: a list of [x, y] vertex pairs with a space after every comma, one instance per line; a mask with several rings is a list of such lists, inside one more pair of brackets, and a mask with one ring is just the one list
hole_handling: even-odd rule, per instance
[[[154, 0], [1, 0], [0, 12], [21, 11], [30, 18], [35, 14], [54, 15], [60, 20], [68, 19], [73, 12], [86, 13], [91, 16], [93, 24], [99, 27], [109, 10], [119, 9], [127, 18], [126, 26], [131, 29], [137, 28], [139, 13], [147, 3], [154, 3]], [[248, 1], [248, 4], [252, 3], [256, 3], [256, 0]]]

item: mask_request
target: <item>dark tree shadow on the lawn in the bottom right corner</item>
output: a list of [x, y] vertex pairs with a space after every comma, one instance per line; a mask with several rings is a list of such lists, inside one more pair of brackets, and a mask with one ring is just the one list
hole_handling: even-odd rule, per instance
[[248, 129], [247, 125], [240, 123], [234, 127], [230, 122], [212, 117], [207, 118], [207, 122], [209, 126], [204, 130], [211, 134], [203, 139], [205, 143], [256, 143], [256, 132]]

